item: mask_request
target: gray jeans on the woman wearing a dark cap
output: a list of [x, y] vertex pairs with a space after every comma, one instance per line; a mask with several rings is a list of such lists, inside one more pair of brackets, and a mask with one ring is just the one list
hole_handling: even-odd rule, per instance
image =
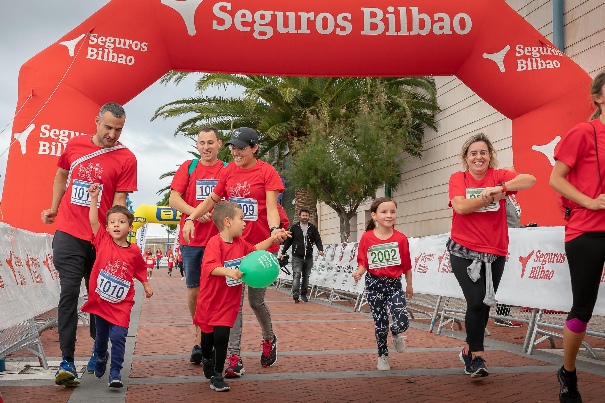
[[[277, 256], [277, 252], [273, 253]], [[233, 329], [231, 329], [231, 333], [229, 334], [229, 354], [237, 354], [240, 355], [240, 345], [241, 345], [241, 326], [242, 326], [242, 317], [241, 312], [244, 306], [244, 291], [246, 290], [246, 285], [244, 284], [241, 288], [241, 301], [240, 301], [240, 311], [237, 313], [237, 318], [235, 319], [235, 323], [233, 324]], [[267, 288], [252, 288], [248, 287], [248, 303], [250, 304], [250, 308], [257, 317], [258, 324], [261, 325], [261, 330], [263, 332], [263, 340], [271, 341], [273, 340], [273, 325], [271, 323], [271, 312], [269, 311], [269, 306], [264, 300], [264, 295], [267, 292]]]

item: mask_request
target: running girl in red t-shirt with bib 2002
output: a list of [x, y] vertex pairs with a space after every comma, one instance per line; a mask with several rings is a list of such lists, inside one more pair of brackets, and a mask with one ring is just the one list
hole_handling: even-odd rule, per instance
[[[393, 228], [396, 210], [396, 202], [387, 197], [378, 198], [371, 204], [372, 219], [359, 240], [359, 268], [352, 274], [355, 282], [358, 282], [368, 271], [365, 275], [365, 295], [374, 318], [379, 370], [391, 369], [387, 347], [388, 311], [393, 318], [390, 326], [393, 347], [401, 353], [405, 349], [405, 336], [402, 333], [408, 329], [405, 298], [410, 299], [413, 295], [408, 239]], [[401, 286], [401, 275], [404, 273], [407, 283], [405, 295]]]

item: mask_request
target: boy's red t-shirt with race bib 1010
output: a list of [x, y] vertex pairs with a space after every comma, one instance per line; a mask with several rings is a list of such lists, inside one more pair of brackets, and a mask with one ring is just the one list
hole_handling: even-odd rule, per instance
[[[88, 282], [88, 301], [82, 306], [82, 312], [99, 315], [110, 323], [128, 327], [134, 305], [132, 278], [142, 283], [147, 281], [141, 250], [134, 243], [128, 247], [116, 245], [103, 226], [99, 227], [92, 242], [97, 257]], [[108, 301], [119, 301], [120, 298], [122, 301], [117, 303]]]

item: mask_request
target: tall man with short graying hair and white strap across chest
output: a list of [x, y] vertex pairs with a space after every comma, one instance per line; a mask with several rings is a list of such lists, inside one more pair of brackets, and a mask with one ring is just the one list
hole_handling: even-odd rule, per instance
[[[88, 187], [99, 185], [99, 231], [105, 229], [105, 215], [116, 204], [126, 206], [129, 192], [137, 190], [137, 160], [118, 141], [126, 113], [117, 103], [106, 103], [94, 121], [97, 132], [79, 135], [67, 142], [57, 161], [51, 207], [42, 211], [44, 224], [56, 224], [53, 238], [53, 263], [59, 272], [60, 294], [57, 309], [59, 346], [63, 361], [54, 376], [57, 385], [76, 386], [80, 383], [74, 366], [77, 330], [77, 300], [82, 279], [88, 280], [96, 253], [92, 239], [97, 234], [88, 218], [90, 196]], [[59, 208], [60, 207], [60, 208]], [[94, 292], [93, 290], [89, 290]], [[94, 315], [90, 315], [90, 335], [95, 338]], [[94, 372], [96, 352], [88, 361], [87, 370]]]

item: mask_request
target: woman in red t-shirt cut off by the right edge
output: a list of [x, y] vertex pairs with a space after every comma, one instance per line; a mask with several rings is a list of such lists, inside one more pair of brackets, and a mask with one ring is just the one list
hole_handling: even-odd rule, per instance
[[581, 401], [575, 358], [597, 302], [605, 265], [605, 71], [590, 86], [597, 106], [591, 120], [577, 124], [555, 147], [551, 187], [562, 197], [565, 252], [573, 303], [563, 328], [564, 364], [558, 370], [561, 402]]

